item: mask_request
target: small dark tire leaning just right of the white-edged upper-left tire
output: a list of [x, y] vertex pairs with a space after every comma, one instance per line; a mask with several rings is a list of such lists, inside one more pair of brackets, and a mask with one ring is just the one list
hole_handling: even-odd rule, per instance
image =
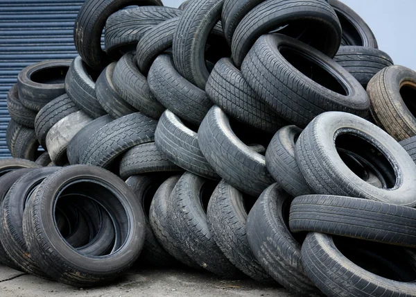
[[137, 110], [125, 102], [114, 88], [112, 83], [114, 67], [116, 67], [116, 62], [112, 62], [104, 68], [97, 78], [95, 91], [97, 100], [105, 112], [110, 114], [114, 119], [118, 119], [127, 114], [137, 112]]

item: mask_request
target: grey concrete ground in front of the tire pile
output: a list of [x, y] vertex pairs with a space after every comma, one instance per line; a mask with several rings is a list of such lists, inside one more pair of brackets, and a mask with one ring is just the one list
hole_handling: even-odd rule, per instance
[[0, 266], [1, 297], [288, 297], [281, 287], [249, 279], [219, 280], [211, 273], [182, 269], [140, 269], [106, 287], [78, 289]]

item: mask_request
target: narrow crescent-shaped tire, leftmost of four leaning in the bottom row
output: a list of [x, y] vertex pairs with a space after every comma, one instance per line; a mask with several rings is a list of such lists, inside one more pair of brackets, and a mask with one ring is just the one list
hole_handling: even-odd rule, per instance
[[157, 189], [150, 205], [150, 226], [152, 227], [153, 234], [165, 251], [182, 264], [200, 269], [200, 266], [182, 250], [179, 239], [175, 236], [175, 233], [171, 232], [170, 222], [168, 220], [169, 197], [179, 179], [180, 176], [171, 176]]

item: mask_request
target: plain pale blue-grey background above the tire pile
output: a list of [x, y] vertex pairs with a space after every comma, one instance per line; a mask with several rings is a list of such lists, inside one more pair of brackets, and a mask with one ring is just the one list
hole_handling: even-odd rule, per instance
[[[181, 0], [162, 0], [177, 7]], [[388, 53], [395, 64], [416, 71], [416, 0], [343, 0], [370, 26], [379, 49]]]

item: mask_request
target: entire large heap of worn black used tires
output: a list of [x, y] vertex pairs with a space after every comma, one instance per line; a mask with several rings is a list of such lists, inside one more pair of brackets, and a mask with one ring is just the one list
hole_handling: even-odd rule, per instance
[[10, 151], [44, 168], [0, 178], [1, 262], [82, 287], [137, 260], [415, 296], [416, 73], [351, 8], [89, 0], [74, 40], [9, 92]]

